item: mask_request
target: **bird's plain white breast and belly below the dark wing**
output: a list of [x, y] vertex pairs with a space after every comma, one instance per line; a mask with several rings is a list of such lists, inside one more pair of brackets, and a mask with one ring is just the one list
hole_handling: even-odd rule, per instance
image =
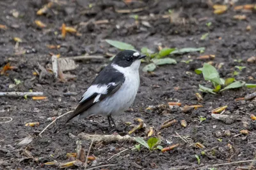
[[133, 103], [140, 86], [140, 75], [138, 71], [125, 73], [125, 81], [115, 94], [106, 97], [99, 103], [80, 115], [79, 118], [89, 115], [118, 115], [127, 110]]

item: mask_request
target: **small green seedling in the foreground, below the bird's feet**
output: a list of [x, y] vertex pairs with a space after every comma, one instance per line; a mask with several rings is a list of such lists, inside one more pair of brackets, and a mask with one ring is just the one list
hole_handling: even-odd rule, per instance
[[[160, 146], [159, 144], [161, 143], [161, 139], [159, 138], [149, 138], [148, 141], [144, 141], [144, 139], [142, 138], [135, 138], [135, 140], [140, 143], [140, 145], [145, 146], [146, 148], [148, 148], [148, 150], [155, 150], [155, 149], [163, 149], [162, 146]], [[136, 147], [136, 145], [135, 145]]]

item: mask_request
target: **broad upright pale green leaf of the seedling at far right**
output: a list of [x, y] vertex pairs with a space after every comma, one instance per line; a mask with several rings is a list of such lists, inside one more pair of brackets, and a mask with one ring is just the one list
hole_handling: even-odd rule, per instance
[[204, 80], [210, 80], [217, 83], [218, 85], [223, 85], [223, 82], [220, 80], [218, 71], [211, 64], [204, 63], [202, 72], [204, 75]]

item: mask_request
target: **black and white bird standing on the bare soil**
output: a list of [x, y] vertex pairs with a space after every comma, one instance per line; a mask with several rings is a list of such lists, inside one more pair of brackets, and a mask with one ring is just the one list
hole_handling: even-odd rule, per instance
[[112, 116], [123, 113], [133, 103], [140, 86], [140, 59], [145, 57], [132, 50], [118, 53], [84, 92], [67, 122], [77, 116], [80, 119], [104, 115], [108, 117], [109, 127], [112, 122], [116, 128]]

